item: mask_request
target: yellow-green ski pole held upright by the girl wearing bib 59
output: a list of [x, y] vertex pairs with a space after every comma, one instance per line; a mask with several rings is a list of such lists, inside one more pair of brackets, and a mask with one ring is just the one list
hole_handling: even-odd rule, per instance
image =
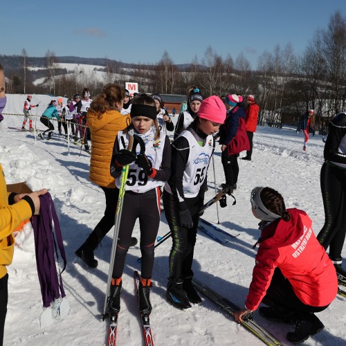
[[[132, 129], [131, 131], [128, 132], [128, 134], [129, 134], [129, 143], [127, 145], [127, 150], [132, 150], [132, 145], [134, 144], [134, 130]], [[126, 181], [127, 181], [127, 175], [128, 174], [129, 174], [129, 165], [122, 166], [122, 171], [121, 171], [121, 176], [120, 176], [120, 188], [119, 188], [118, 203], [116, 204], [116, 216], [115, 216], [115, 221], [114, 221], [113, 244], [111, 246], [111, 260], [109, 262], [107, 290], [106, 290], [106, 296], [104, 298], [102, 320], [109, 317], [108, 313], [106, 312], [107, 300], [108, 300], [109, 290], [111, 287], [111, 276], [113, 273], [113, 262], [114, 262], [114, 258], [116, 257], [116, 244], [118, 243], [120, 219], [121, 219], [121, 214], [122, 214], [122, 206], [123, 206], [123, 201], [124, 201], [124, 197], [125, 197]]]

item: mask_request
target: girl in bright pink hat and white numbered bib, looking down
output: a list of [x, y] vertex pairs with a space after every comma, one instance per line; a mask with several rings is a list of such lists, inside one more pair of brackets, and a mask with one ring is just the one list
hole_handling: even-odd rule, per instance
[[224, 102], [210, 96], [191, 125], [172, 143], [172, 175], [163, 190], [165, 217], [172, 232], [167, 300], [188, 309], [201, 298], [192, 286], [192, 261], [199, 210], [203, 206], [210, 159], [215, 150], [213, 134], [226, 118]]

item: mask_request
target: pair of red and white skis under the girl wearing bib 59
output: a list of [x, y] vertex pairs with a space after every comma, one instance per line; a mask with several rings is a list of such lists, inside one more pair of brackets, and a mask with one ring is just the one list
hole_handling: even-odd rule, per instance
[[[139, 303], [139, 282], [140, 276], [138, 271], [134, 271], [134, 286], [138, 296]], [[145, 346], [154, 346], [152, 338], [152, 328], [150, 327], [150, 320], [148, 314], [141, 314], [140, 321], [142, 322], [143, 336]], [[116, 331], [118, 327], [118, 314], [110, 316], [109, 330], [108, 330], [108, 346], [116, 346]]]

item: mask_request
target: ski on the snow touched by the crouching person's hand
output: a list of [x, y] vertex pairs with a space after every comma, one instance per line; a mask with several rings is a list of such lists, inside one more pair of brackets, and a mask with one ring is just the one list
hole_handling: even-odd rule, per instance
[[[210, 289], [208, 286], [200, 282], [199, 280], [193, 278], [192, 284], [196, 289], [201, 291], [204, 295], [206, 295], [210, 300], [215, 302], [215, 304], [219, 305], [221, 309], [226, 311], [230, 314], [230, 316], [233, 316], [233, 312], [239, 310], [239, 307], [237, 307], [236, 304], [233, 304], [233, 302], [230, 302], [230, 300], [223, 298], [219, 293], [216, 293], [212, 289]], [[280, 342], [280, 340], [277, 340], [275, 336], [273, 336], [271, 333], [266, 331], [262, 326], [257, 324], [255, 320], [253, 320], [253, 314], [251, 313], [246, 320], [243, 320], [242, 325], [246, 327], [251, 333], [253, 333], [257, 338], [260, 338], [266, 345], [282, 345], [283, 343]]]

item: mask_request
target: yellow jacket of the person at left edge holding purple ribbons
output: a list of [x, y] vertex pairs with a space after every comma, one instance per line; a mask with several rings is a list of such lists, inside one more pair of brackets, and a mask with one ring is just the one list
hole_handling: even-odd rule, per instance
[[0, 164], [0, 279], [7, 273], [6, 266], [12, 263], [15, 248], [12, 230], [33, 215], [29, 203], [24, 199], [9, 206], [8, 195], [5, 174]]

